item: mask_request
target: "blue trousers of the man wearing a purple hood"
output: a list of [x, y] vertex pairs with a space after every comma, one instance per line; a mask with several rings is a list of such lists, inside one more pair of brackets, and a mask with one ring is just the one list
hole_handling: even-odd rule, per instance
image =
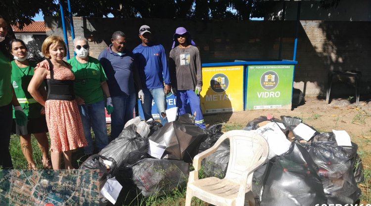
[[201, 104], [200, 104], [200, 96], [194, 93], [194, 90], [178, 90], [177, 91], [177, 106], [178, 106], [178, 113], [179, 115], [186, 113], [186, 104], [187, 100], [189, 101], [190, 110], [192, 115], [196, 112], [196, 117], [194, 120], [194, 124], [197, 125], [199, 128], [205, 129], [206, 125], [203, 120]]

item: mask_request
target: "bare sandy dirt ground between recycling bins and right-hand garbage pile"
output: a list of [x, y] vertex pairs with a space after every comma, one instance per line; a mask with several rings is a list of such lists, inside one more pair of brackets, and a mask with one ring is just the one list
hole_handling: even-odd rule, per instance
[[305, 103], [293, 110], [262, 109], [216, 114], [205, 116], [208, 124], [226, 123], [245, 126], [248, 121], [259, 116], [271, 114], [280, 119], [282, 115], [299, 117], [304, 123], [314, 127], [318, 132], [345, 130], [353, 142], [359, 145], [359, 151], [366, 153], [364, 167], [371, 167], [371, 103], [360, 101], [359, 105], [344, 99], [333, 99], [330, 104], [316, 97], [305, 97]]

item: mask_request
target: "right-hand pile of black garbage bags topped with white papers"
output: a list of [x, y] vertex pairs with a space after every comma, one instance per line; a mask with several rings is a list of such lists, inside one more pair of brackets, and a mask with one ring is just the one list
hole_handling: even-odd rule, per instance
[[[297, 129], [300, 124], [306, 134]], [[357, 182], [364, 180], [364, 174], [357, 144], [338, 146], [334, 133], [319, 133], [300, 118], [289, 116], [281, 116], [281, 120], [259, 117], [244, 129], [265, 137], [270, 147], [269, 161], [253, 177], [258, 205], [345, 205], [359, 201]]]

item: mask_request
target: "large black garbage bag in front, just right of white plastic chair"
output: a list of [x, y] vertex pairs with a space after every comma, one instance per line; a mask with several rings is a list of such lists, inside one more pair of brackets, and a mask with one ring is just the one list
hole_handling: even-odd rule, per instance
[[286, 153], [272, 158], [267, 164], [261, 206], [327, 204], [317, 170], [307, 150], [293, 142]]

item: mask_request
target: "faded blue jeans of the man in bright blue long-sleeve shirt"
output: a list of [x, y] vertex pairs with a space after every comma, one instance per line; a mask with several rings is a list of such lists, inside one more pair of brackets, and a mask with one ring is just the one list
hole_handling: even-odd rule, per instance
[[161, 124], [165, 124], [167, 122], [166, 118], [161, 116], [161, 112], [165, 113], [167, 108], [166, 103], [166, 94], [164, 92], [164, 88], [156, 88], [156, 89], [147, 89], [143, 88], [144, 93], [144, 103], [141, 104], [144, 113], [144, 119], [147, 121], [148, 119], [152, 118], [152, 100], [156, 103], [157, 111], [160, 114]]

